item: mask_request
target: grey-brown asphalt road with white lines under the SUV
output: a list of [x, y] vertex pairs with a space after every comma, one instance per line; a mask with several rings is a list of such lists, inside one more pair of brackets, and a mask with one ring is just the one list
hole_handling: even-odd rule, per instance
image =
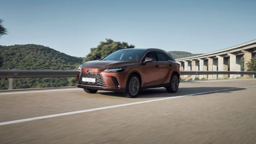
[[256, 143], [256, 79], [120, 95], [78, 88], [0, 92], [0, 143]]

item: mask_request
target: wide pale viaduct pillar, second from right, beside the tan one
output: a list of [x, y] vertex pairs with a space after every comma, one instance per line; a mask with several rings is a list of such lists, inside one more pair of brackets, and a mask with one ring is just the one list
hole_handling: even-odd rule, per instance
[[[227, 54], [230, 56], [230, 71], [241, 71], [241, 56], [238, 56], [236, 53]], [[230, 75], [230, 78], [237, 78], [241, 75]]]

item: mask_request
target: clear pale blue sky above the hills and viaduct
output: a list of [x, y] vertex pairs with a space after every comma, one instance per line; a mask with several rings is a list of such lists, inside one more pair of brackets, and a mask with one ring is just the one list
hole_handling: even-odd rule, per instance
[[85, 57], [105, 38], [207, 53], [256, 39], [255, 0], [1, 0], [0, 45]]

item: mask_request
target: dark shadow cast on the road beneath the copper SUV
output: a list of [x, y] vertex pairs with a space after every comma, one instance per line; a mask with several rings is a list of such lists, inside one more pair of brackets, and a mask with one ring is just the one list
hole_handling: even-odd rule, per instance
[[[181, 87], [176, 93], [168, 93], [165, 88], [142, 89], [137, 98], [163, 98], [175, 97], [182, 95], [207, 95], [212, 93], [230, 93], [244, 90], [245, 88], [237, 87]], [[101, 95], [124, 97], [122, 92], [97, 92]]]

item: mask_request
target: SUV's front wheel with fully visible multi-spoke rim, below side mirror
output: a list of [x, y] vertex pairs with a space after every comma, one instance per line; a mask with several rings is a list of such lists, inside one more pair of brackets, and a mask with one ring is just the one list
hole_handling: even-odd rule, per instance
[[124, 96], [126, 98], [136, 98], [140, 91], [140, 78], [137, 75], [130, 75], [126, 84]]

